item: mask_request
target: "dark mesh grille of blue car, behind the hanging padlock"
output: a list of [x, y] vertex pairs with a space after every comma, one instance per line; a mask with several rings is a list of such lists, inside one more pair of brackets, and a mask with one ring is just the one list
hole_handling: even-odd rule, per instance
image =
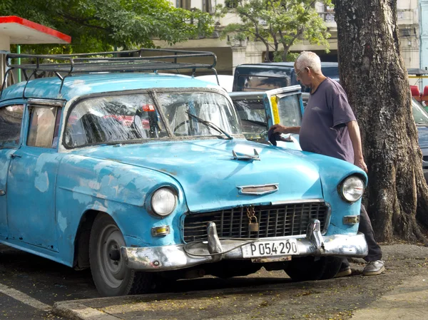
[[320, 220], [321, 230], [325, 230], [329, 214], [324, 202], [255, 206], [254, 210], [259, 223], [258, 232], [249, 231], [247, 207], [187, 215], [184, 220], [184, 241], [206, 240], [207, 223], [210, 221], [215, 222], [220, 238], [297, 236], [306, 234], [311, 219]]

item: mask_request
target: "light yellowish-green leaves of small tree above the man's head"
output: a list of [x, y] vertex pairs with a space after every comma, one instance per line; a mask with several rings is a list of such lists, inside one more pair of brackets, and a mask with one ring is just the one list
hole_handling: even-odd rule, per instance
[[221, 36], [238, 40], [250, 38], [263, 41], [274, 53], [275, 61], [287, 61], [290, 47], [303, 38], [312, 44], [325, 46], [328, 51], [330, 33], [315, 11], [315, 2], [332, 6], [331, 0], [238, 0], [236, 7], [217, 6], [216, 17], [235, 14], [239, 24], [230, 24]]

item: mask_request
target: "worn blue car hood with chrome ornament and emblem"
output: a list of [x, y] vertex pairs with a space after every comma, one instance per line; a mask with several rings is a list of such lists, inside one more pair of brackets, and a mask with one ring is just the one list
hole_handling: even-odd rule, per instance
[[[260, 161], [233, 159], [233, 150], [238, 155], [253, 155], [254, 149], [260, 154]], [[185, 201], [192, 212], [284, 200], [320, 199], [323, 197], [320, 165], [330, 167], [328, 171], [331, 172], [331, 160], [335, 160], [328, 158], [329, 161], [322, 164], [319, 155], [239, 139], [157, 142], [119, 147], [103, 145], [73, 153], [163, 172], [183, 188]], [[312, 155], [318, 160], [312, 161]], [[343, 169], [337, 167], [337, 177], [333, 183], [350, 173], [349, 164], [344, 163]], [[265, 184], [278, 184], [279, 190], [268, 195], [242, 195], [238, 189]]]

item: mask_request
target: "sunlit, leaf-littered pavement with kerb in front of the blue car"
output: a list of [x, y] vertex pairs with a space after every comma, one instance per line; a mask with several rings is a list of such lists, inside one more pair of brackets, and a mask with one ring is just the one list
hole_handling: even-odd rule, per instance
[[73, 320], [428, 319], [428, 248], [382, 250], [387, 272], [379, 276], [363, 277], [363, 264], [352, 261], [352, 277], [62, 301], [54, 314]]

